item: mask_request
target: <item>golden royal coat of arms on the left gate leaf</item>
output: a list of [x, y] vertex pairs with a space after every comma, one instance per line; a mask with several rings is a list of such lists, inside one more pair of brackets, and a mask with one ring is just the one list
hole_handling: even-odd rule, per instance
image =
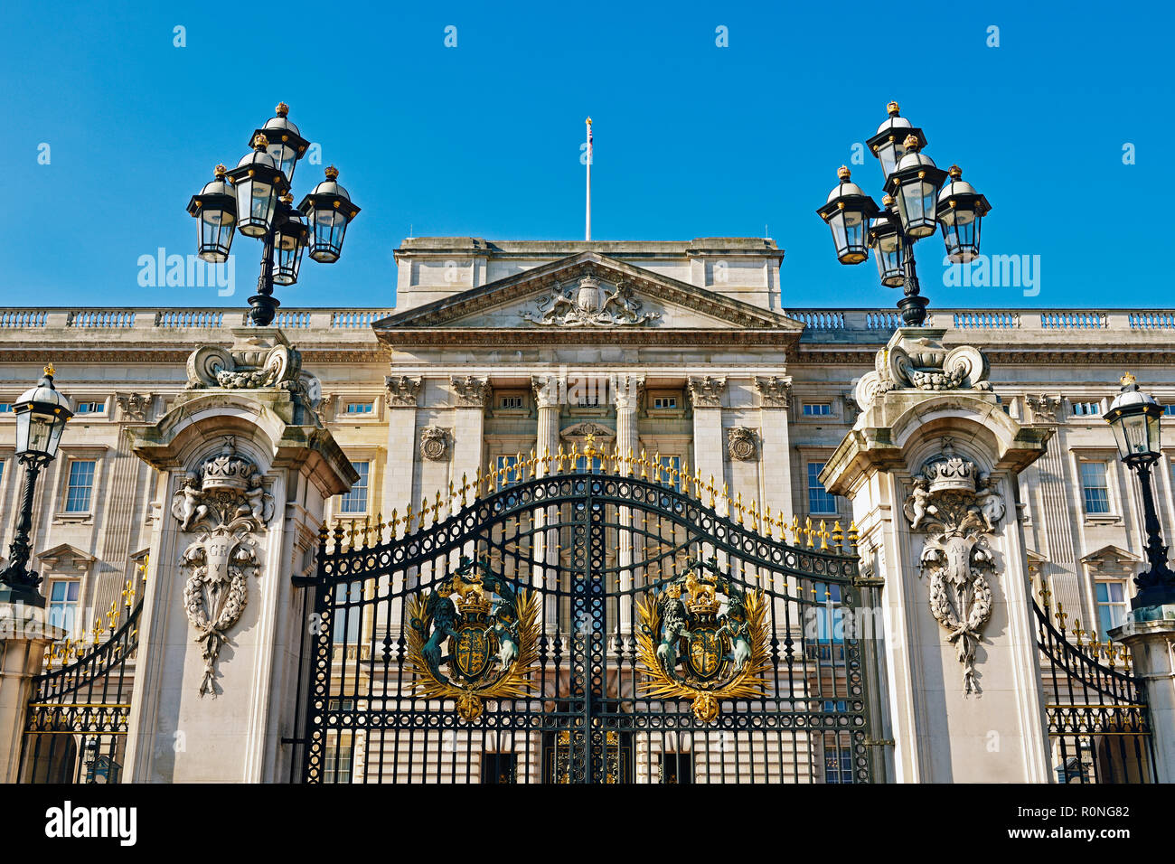
[[517, 592], [484, 561], [462, 558], [457, 571], [408, 603], [408, 659], [414, 690], [452, 698], [468, 722], [486, 698], [524, 697], [536, 684], [538, 597]]

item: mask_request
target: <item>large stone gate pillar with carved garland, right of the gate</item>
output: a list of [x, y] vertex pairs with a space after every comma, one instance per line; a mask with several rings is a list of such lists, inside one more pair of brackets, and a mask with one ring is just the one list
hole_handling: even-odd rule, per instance
[[857, 616], [884, 682], [874, 758], [901, 782], [1047, 783], [1015, 504], [1016, 477], [1048, 433], [1006, 415], [983, 355], [947, 351], [942, 333], [894, 334], [881, 371], [858, 387], [862, 417], [821, 474], [832, 494], [852, 500], [862, 570], [880, 587], [880, 607]]

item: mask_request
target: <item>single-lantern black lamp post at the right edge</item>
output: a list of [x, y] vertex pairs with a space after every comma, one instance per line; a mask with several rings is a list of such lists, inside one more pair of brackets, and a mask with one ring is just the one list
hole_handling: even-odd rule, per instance
[[1175, 572], [1167, 563], [1167, 547], [1155, 514], [1155, 496], [1150, 488], [1150, 469], [1159, 461], [1159, 418], [1163, 409], [1154, 397], [1141, 393], [1135, 377], [1122, 376], [1122, 390], [1110, 402], [1106, 422], [1114, 430], [1119, 455], [1139, 475], [1142, 487], [1142, 513], [1147, 531], [1147, 562], [1150, 569], [1134, 577], [1139, 592], [1130, 601], [1133, 609], [1175, 604]]

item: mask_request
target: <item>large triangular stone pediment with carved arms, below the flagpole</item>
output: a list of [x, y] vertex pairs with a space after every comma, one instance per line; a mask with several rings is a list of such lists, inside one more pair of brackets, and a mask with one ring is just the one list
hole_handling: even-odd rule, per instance
[[798, 337], [803, 322], [624, 261], [583, 252], [372, 324], [424, 328], [609, 331], [773, 330]]

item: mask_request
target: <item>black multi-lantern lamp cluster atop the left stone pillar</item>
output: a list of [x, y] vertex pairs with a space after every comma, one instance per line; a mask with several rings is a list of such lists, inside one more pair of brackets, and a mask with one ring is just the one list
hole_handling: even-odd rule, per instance
[[347, 226], [360, 208], [338, 185], [338, 170], [325, 169], [325, 181], [295, 208], [289, 194], [294, 169], [309, 141], [298, 134], [287, 115], [289, 106], [277, 106], [277, 116], [255, 129], [253, 152], [235, 168], [216, 166], [213, 181], [193, 195], [188, 213], [196, 217], [199, 256], [212, 263], [228, 260], [234, 229], [263, 241], [257, 293], [249, 297], [249, 319], [257, 327], [273, 323], [280, 303], [274, 284], [297, 282], [302, 253], [320, 263], [334, 263], [343, 252]]

